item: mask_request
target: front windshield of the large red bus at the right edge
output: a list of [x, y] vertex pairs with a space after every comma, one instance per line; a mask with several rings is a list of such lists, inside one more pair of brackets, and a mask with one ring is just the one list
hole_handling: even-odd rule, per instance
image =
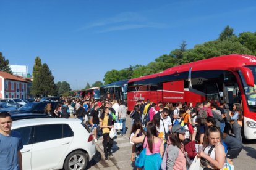
[[255, 84], [256, 65], [250, 65], [247, 67], [250, 68], [250, 70], [252, 71], [252, 74], [254, 75], [254, 87], [248, 86], [243, 79], [244, 91], [247, 97], [247, 102], [250, 110], [253, 110], [255, 112], [256, 111], [256, 84]]

